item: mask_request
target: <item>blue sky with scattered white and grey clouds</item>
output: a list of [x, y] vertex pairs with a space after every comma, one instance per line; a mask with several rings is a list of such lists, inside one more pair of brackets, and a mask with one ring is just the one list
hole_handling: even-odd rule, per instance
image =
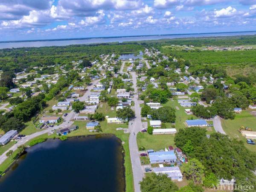
[[256, 0], [1, 0], [0, 41], [256, 30]]

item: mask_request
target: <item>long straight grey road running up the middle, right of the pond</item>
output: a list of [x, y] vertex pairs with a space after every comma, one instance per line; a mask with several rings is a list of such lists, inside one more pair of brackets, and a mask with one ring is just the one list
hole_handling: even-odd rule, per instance
[[[137, 79], [136, 73], [131, 72], [131, 76], [133, 79], [133, 86], [135, 93], [137, 93]], [[135, 192], [140, 192], [140, 181], [144, 177], [143, 168], [140, 164], [140, 156], [139, 150], [137, 145], [137, 133], [142, 130], [142, 122], [140, 116], [140, 103], [138, 101], [138, 95], [134, 95], [134, 109], [135, 109], [135, 118], [132, 119], [129, 123], [129, 148], [130, 148], [130, 155], [131, 155], [131, 164], [132, 164], [132, 171], [134, 177], [134, 190]], [[132, 124], [132, 125], [131, 125]], [[135, 135], [134, 135], [135, 134]]]

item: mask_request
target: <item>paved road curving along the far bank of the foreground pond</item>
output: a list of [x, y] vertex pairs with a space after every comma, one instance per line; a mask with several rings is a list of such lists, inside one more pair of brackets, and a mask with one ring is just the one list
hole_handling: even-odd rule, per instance
[[[86, 91], [84, 93], [83, 96], [79, 97], [78, 99], [80, 101], [85, 101], [87, 99], [87, 97], [90, 95], [90, 90], [94, 87], [94, 85], [99, 82], [100, 80], [96, 80], [96, 81], [93, 81], [93, 83], [87, 87], [88, 91]], [[7, 151], [5, 151], [1, 156], [0, 156], [0, 164], [3, 163], [4, 160], [7, 159], [6, 157], [6, 153], [9, 151], [9, 150], [12, 150], [12, 151], [15, 151], [17, 149], [18, 146], [20, 145], [23, 145], [24, 143], [26, 143], [27, 141], [35, 138], [35, 137], [38, 137], [42, 134], [46, 134], [46, 133], [49, 133], [52, 129], [59, 129], [59, 128], [64, 128], [64, 127], [68, 127], [70, 125], [72, 125], [72, 121], [70, 121], [71, 119], [74, 118], [74, 116], [76, 115], [76, 113], [74, 111], [71, 111], [70, 113], [68, 113], [68, 115], [66, 117], [62, 116], [62, 118], [64, 119], [63, 123], [61, 123], [61, 125], [58, 125], [58, 126], [55, 126], [54, 128], [48, 128], [48, 129], [45, 129], [43, 131], [39, 131], [39, 132], [36, 132], [34, 134], [31, 134], [31, 135], [27, 135], [26, 137], [23, 137], [21, 140], [19, 140], [17, 143], [15, 143], [11, 148], [9, 148]]]

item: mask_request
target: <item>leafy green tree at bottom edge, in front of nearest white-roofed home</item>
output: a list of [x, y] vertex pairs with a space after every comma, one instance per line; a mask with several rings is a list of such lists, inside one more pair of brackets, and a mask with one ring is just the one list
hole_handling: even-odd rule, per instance
[[141, 192], [176, 192], [177, 185], [166, 174], [152, 173], [140, 181]]

